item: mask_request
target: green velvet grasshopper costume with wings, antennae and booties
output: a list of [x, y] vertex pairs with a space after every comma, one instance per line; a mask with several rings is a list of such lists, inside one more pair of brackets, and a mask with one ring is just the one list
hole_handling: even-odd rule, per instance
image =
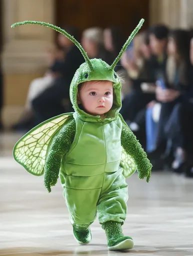
[[[74, 237], [80, 244], [90, 241], [89, 225], [97, 213], [106, 232], [108, 248], [130, 249], [132, 238], [124, 236], [121, 230], [128, 197], [125, 177], [137, 168], [138, 177], [146, 176], [148, 182], [151, 163], [119, 114], [121, 83], [114, 67], [143, 19], [111, 66], [101, 59], [89, 59], [71, 35], [49, 23], [23, 21], [12, 27], [27, 23], [48, 26], [65, 34], [80, 49], [85, 62], [76, 70], [70, 84], [74, 112], [55, 116], [31, 129], [15, 144], [13, 156], [28, 172], [44, 173], [44, 184], [49, 192], [60, 177]], [[77, 104], [78, 85], [90, 80], [113, 83], [113, 104], [104, 119], [86, 113]]]

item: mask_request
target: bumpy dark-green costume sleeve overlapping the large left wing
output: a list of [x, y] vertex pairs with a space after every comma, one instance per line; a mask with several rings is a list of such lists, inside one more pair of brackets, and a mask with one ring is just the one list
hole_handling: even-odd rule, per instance
[[67, 121], [53, 138], [44, 165], [44, 185], [48, 192], [57, 182], [61, 158], [67, 153], [75, 135], [75, 120]]

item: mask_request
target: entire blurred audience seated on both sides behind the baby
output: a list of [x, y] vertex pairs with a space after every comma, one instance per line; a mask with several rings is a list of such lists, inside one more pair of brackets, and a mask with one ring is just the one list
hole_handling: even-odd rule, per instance
[[[111, 64], [125, 36], [118, 27], [77, 29], [64, 27], [89, 58]], [[56, 48], [47, 52], [47, 70], [29, 84], [22, 116], [13, 130], [73, 111], [69, 85], [84, 62], [77, 47], [57, 35]], [[139, 32], [127, 47], [115, 71], [122, 80], [120, 113], [135, 133], [153, 164], [193, 176], [193, 31], [157, 24]], [[1, 102], [0, 102], [1, 107]]]

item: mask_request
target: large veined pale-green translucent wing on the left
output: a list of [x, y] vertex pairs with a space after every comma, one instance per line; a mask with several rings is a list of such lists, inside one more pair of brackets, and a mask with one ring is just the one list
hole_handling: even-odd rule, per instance
[[72, 114], [57, 115], [29, 130], [14, 145], [14, 159], [31, 174], [42, 175], [49, 142]]

